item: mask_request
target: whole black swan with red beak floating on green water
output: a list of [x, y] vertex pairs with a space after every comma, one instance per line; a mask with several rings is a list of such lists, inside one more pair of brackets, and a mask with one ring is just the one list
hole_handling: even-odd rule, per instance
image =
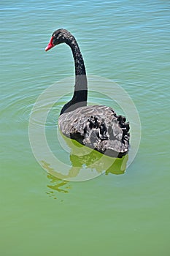
[[72, 99], [63, 106], [58, 125], [63, 135], [109, 157], [128, 154], [129, 123], [104, 105], [87, 106], [88, 82], [82, 53], [74, 36], [66, 29], [56, 30], [45, 50], [65, 42], [72, 49], [75, 86]]

